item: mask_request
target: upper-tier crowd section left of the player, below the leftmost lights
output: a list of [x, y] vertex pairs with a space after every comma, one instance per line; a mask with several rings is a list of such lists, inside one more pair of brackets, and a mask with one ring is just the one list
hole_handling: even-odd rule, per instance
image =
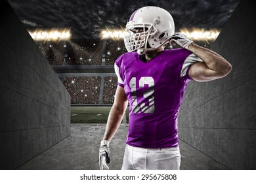
[[50, 65], [102, 65], [103, 41], [37, 41], [37, 46]]

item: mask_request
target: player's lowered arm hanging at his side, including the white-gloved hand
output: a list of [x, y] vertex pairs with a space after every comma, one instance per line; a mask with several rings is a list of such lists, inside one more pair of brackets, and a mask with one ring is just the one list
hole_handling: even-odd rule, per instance
[[100, 142], [100, 152], [98, 158], [101, 170], [108, 169], [108, 165], [106, 165], [106, 163], [110, 163], [109, 144], [114, 137], [119, 125], [121, 124], [121, 120], [123, 119], [126, 108], [127, 97], [125, 90], [117, 85], [114, 103], [110, 110], [110, 114], [108, 115], [105, 134], [102, 141]]

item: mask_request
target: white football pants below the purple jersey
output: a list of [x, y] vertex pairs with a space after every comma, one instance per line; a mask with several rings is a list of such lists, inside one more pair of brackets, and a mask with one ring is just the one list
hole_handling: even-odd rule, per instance
[[179, 146], [173, 148], [138, 148], [126, 145], [122, 170], [179, 170]]

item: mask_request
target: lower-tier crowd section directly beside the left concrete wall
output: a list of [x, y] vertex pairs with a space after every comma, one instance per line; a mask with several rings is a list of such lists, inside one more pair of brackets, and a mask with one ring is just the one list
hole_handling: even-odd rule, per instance
[[72, 104], [98, 104], [100, 80], [100, 76], [66, 76], [63, 84]]

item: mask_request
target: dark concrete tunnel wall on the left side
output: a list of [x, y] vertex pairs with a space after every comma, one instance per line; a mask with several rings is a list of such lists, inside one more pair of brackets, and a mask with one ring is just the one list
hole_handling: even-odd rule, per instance
[[7, 1], [0, 1], [0, 169], [70, 135], [70, 95]]

